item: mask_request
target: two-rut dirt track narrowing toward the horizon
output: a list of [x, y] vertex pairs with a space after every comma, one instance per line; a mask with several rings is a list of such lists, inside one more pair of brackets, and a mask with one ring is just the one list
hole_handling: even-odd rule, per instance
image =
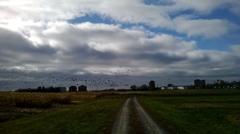
[[[130, 103], [132, 102], [132, 103]], [[130, 105], [131, 104], [131, 105]], [[136, 111], [130, 111], [129, 107], [134, 107]], [[131, 113], [130, 112], [135, 112]], [[136, 97], [128, 98], [124, 103], [116, 122], [114, 123], [112, 134], [129, 134], [129, 130], [138, 129], [132, 128], [132, 124], [129, 123], [131, 119], [130, 115], [136, 114], [143, 126], [145, 134], [166, 134], [167, 132], [159, 128], [159, 126], [152, 120], [148, 113], [139, 104]]]

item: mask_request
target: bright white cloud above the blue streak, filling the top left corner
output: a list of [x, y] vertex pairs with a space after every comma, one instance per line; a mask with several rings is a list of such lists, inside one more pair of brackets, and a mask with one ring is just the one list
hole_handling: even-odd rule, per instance
[[[88, 13], [98, 13], [110, 16], [115, 20], [124, 22], [144, 22], [152, 20], [155, 25], [169, 25], [169, 17], [156, 6], [147, 6], [140, 0], [98, 1], [98, 0], [7, 0], [0, 3], [4, 14], [2, 20], [15, 17], [32, 20], [67, 20]], [[119, 12], [121, 11], [121, 12]], [[14, 13], [14, 14], [13, 14]], [[12, 14], [12, 16], [9, 16]]]

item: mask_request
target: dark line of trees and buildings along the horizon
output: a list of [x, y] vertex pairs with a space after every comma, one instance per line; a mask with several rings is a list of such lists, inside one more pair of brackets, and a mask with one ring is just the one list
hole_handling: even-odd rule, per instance
[[[205, 80], [196, 79], [193, 85], [176, 86], [174, 84], [168, 84], [167, 86], [157, 87], [155, 81], [151, 80], [148, 84], [141, 86], [132, 85], [129, 89], [105, 89], [101, 91], [154, 91], [164, 89], [240, 89], [240, 81], [224, 81], [217, 80], [213, 83], [206, 83]], [[87, 86], [70, 86], [67, 90], [66, 87], [38, 87], [28, 89], [18, 89], [17, 92], [84, 92], [87, 91]]]

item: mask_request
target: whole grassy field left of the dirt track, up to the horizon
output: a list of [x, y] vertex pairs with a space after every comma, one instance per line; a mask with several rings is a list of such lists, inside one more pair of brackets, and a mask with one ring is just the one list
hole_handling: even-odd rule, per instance
[[[6, 94], [5, 94], [6, 95]], [[13, 94], [12, 94], [13, 95]], [[96, 97], [95, 94], [21, 94], [34, 99], [44, 96], [44, 99], [59, 99], [71, 96], [71, 104], [53, 104], [45, 107], [17, 107], [14, 104], [1, 108], [2, 116], [15, 114], [17, 117], [8, 118], [0, 123], [1, 134], [103, 134], [111, 133], [115, 115], [120, 109], [124, 98]], [[15, 98], [20, 96], [14, 94]], [[12, 97], [13, 97], [12, 96]], [[28, 97], [26, 97], [28, 96]], [[34, 97], [30, 97], [34, 96]], [[88, 97], [87, 97], [88, 96]], [[94, 97], [93, 97], [94, 96]], [[46, 101], [43, 98], [39, 100]], [[5, 98], [6, 99], [6, 98]], [[8, 98], [9, 99], [9, 98]], [[39, 98], [38, 98], [39, 99]], [[11, 102], [11, 101], [10, 101]], [[9, 102], [9, 103], [10, 103]], [[37, 104], [36, 102], [34, 103]], [[31, 104], [33, 105], [33, 104]], [[39, 104], [37, 104], [39, 105]], [[4, 111], [5, 109], [5, 111]], [[5, 114], [5, 115], [4, 115]], [[14, 116], [14, 115], [12, 115]]]

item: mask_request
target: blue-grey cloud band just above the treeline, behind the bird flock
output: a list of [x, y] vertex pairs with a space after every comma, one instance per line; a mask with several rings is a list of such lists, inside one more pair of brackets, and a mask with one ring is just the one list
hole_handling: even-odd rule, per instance
[[[8, 73], [7, 73], [8, 74]], [[175, 86], [189, 86], [194, 85], [195, 79], [204, 79], [207, 84], [212, 84], [217, 80], [225, 81], [239, 81], [238, 77], [160, 77], [160, 76], [129, 76], [129, 75], [72, 75], [64, 73], [31, 73], [29, 76], [26, 72], [14, 72], [12, 75], [5, 75], [5, 79], [0, 81], [0, 91], [21, 88], [37, 88], [39, 86], [45, 87], [70, 87], [86, 85], [89, 91], [102, 89], [129, 89], [131, 85], [141, 86], [148, 84], [150, 80], [154, 80], [157, 87], [167, 86], [173, 84]]]

